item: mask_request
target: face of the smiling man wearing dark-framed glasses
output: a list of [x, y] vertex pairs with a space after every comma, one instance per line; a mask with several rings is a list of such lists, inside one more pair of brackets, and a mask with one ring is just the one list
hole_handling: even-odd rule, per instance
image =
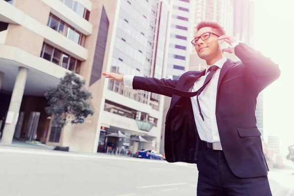
[[197, 39], [195, 50], [201, 59], [209, 60], [210, 58], [217, 56], [221, 53], [218, 42], [219, 36], [213, 28], [200, 28], [195, 38], [197, 37], [199, 37], [199, 39]]

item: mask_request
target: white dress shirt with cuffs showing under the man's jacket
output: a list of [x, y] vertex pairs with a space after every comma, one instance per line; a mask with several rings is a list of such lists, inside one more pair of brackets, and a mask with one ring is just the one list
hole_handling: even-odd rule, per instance
[[[229, 47], [233, 53], [235, 53], [234, 49], [240, 42], [234, 42]], [[212, 79], [198, 96], [199, 105], [201, 108], [202, 115], [204, 117], [204, 121], [202, 120], [199, 114], [199, 108], [197, 105], [196, 96], [191, 98], [192, 108], [194, 113], [194, 118], [196, 122], [196, 127], [198, 130], [198, 135], [202, 141], [206, 141], [209, 143], [219, 143], [220, 135], [218, 124], [216, 120], [216, 100], [217, 100], [217, 87], [218, 81], [220, 77], [220, 72], [223, 64], [226, 62], [226, 58], [221, 58], [214, 65], [218, 66], [220, 69], [214, 73]], [[194, 85], [189, 89], [189, 92], [195, 92], [201, 88], [203, 85], [206, 76], [208, 75], [207, 71], [210, 66], [206, 66], [205, 75], [201, 76], [196, 80]], [[123, 84], [125, 87], [133, 87], [133, 75], [124, 75], [123, 76]]]

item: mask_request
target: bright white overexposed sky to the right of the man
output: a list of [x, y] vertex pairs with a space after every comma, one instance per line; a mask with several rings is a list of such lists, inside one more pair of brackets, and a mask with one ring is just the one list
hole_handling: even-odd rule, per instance
[[280, 136], [281, 148], [294, 144], [294, 0], [255, 0], [254, 48], [281, 69], [264, 90], [264, 136]]

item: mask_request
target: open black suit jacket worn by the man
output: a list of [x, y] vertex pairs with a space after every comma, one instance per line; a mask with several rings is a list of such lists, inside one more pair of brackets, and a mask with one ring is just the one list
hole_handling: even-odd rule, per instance
[[[261, 133], [256, 126], [255, 107], [259, 93], [280, 76], [278, 65], [244, 43], [235, 47], [241, 60], [227, 60], [221, 68], [217, 88], [216, 117], [223, 153], [238, 177], [268, 173]], [[196, 163], [204, 149], [193, 115], [190, 98], [172, 95], [169, 86], [187, 91], [202, 72], [190, 71], [178, 80], [135, 76], [133, 88], [172, 97], [166, 117], [165, 155], [168, 162]]]

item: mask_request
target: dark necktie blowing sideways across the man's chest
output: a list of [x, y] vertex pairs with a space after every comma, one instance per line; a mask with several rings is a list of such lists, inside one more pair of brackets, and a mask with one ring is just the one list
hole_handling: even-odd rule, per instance
[[179, 97], [184, 97], [184, 98], [191, 98], [191, 97], [196, 97], [197, 99], [197, 105], [198, 105], [198, 109], [199, 109], [199, 114], [202, 118], [202, 120], [204, 121], [204, 117], [202, 115], [202, 112], [201, 112], [201, 108], [200, 108], [200, 104], [199, 104], [199, 100], [198, 100], [198, 96], [201, 94], [201, 92], [205, 89], [205, 87], [207, 86], [207, 84], [209, 83], [209, 81], [211, 80], [212, 76], [214, 73], [216, 73], [216, 71], [219, 69], [218, 66], [216, 65], [213, 65], [211, 66], [208, 70], [207, 70], [207, 73], [208, 75], [206, 76], [205, 78], [205, 81], [203, 83], [203, 85], [201, 86], [201, 88], [196, 91], [196, 92], [187, 92], [187, 91], [182, 91], [182, 90], [179, 90], [179, 89], [175, 89], [175, 88], [171, 88], [171, 87], [167, 87], [170, 91], [170, 93], [172, 95], [177, 95]]

